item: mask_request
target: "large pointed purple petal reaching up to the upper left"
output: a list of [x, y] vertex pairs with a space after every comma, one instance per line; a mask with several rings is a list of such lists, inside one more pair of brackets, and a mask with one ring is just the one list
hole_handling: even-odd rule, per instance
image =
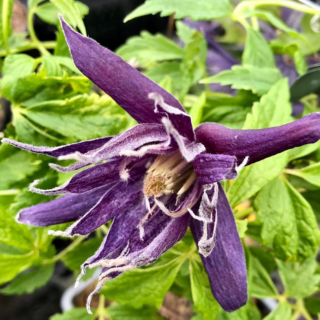
[[168, 114], [175, 128], [189, 140], [194, 140], [191, 118], [169, 92], [142, 75], [112, 51], [74, 31], [62, 17], [60, 22], [77, 68], [94, 84], [139, 123], [161, 124], [164, 113], [155, 113], [154, 101], [148, 98], [149, 93], [160, 94], [165, 103], [183, 112]]

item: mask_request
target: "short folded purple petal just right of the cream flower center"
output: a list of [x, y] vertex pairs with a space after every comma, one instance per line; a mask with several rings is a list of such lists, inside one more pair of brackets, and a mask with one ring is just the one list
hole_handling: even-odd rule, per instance
[[197, 155], [192, 164], [202, 184], [236, 177], [236, 159], [234, 156], [205, 153]]

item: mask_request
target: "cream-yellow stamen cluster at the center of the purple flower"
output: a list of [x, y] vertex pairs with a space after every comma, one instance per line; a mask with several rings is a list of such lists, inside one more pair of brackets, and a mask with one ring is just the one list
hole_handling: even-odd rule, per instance
[[143, 192], [146, 196], [159, 197], [186, 192], [196, 180], [196, 173], [179, 151], [158, 156], [144, 178]]

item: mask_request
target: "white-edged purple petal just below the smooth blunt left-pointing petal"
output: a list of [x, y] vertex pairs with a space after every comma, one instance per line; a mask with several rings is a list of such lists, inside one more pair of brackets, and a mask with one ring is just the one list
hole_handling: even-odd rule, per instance
[[53, 234], [61, 236], [87, 235], [107, 223], [118, 213], [128, 212], [127, 210], [132, 202], [141, 196], [142, 182], [140, 180], [142, 180], [142, 175], [140, 178], [135, 181], [129, 180], [128, 183], [118, 182], [100, 198], [99, 202], [90, 211], [66, 231], [57, 231]]

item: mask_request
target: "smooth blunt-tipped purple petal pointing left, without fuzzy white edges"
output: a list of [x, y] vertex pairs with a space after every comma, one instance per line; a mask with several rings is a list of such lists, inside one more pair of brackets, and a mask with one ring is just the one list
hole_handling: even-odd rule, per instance
[[74, 221], [90, 210], [106, 191], [105, 187], [101, 187], [80, 195], [66, 195], [47, 203], [36, 204], [22, 209], [17, 220], [42, 227]]

